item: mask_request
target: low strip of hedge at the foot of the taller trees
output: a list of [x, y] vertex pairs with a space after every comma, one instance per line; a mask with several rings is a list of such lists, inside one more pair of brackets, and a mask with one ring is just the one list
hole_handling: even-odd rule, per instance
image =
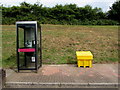
[[[32, 17], [24, 17], [19, 21], [32, 21], [34, 19], [32, 19]], [[10, 24], [15, 24], [17, 20], [15, 18], [8, 18], [5, 17], [2, 19], [2, 24], [3, 25], [10, 25]], [[61, 20], [58, 21], [56, 19], [41, 19], [39, 21], [41, 24], [61, 24], [61, 25], [120, 25], [119, 22], [114, 21], [114, 20], [107, 20], [107, 19], [102, 19], [102, 20], [85, 20], [85, 21], [80, 21], [77, 19], [73, 19], [71, 21], [65, 21], [65, 20]]]

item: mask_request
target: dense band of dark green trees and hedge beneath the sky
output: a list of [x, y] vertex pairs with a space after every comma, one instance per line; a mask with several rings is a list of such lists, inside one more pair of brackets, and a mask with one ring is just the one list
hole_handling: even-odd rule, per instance
[[78, 7], [76, 4], [43, 7], [42, 4], [22, 2], [20, 6], [2, 6], [2, 24], [16, 21], [38, 21], [41, 24], [63, 25], [119, 25], [120, 1], [115, 2], [108, 12], [90, 5]]

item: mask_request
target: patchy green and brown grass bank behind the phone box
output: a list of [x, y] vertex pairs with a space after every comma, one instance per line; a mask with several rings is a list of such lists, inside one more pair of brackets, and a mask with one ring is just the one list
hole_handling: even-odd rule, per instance
[[[4, 67], [16, 66], [15, 25], [3, 25]], [[90, 50], [93, 63], [118, 62], [118, 26], [42, 25], [44, 64], [74, 64], [77, 50]]]

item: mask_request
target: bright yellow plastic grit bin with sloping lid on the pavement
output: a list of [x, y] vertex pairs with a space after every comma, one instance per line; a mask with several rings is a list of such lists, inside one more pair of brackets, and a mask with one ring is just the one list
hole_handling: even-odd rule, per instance
[[92, 67], [93, 55], [90, 51], [76, 51], [78, 67]]

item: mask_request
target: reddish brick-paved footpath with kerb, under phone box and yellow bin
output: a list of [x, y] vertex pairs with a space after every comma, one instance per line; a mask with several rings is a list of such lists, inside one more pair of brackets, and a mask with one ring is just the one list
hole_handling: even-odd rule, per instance
[[7, 69], [6, 87], [12, 88], [83, 88], [118, 87], [118, 64], [93, 64], [92, 68], [76, 65], [43, 65], [38, 73]]

